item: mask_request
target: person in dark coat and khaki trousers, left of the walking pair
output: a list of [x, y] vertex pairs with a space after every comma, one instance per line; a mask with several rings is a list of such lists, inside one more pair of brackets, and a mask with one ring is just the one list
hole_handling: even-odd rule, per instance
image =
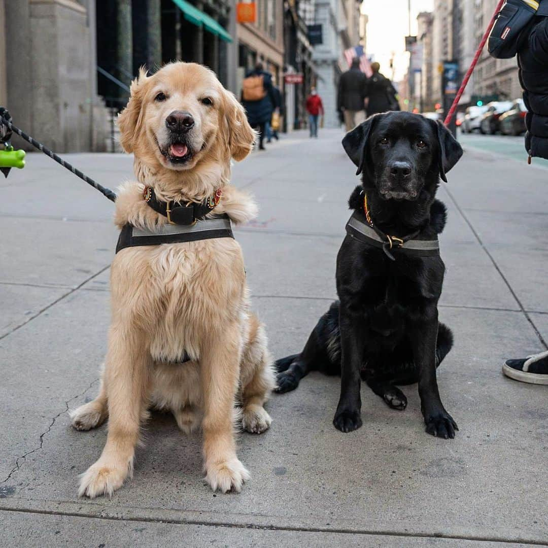
[[359, 69], [359, 58], [352, 59], [350, 70], [339, 79], [337, 109], [343, 112], [346, 131], [354, 129], [366, 119], [367, 76]]

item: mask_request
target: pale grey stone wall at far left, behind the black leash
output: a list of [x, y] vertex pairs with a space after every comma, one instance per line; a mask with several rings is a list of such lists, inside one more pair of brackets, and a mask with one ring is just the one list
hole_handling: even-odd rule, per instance
[[0, 0], [0, 103], [53, 150], [104, 150], [95, 52], [95, 0]]

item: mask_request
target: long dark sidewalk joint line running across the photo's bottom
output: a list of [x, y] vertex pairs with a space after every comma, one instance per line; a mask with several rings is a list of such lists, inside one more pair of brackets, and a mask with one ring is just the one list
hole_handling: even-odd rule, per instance
[[222, 521], [205, 521], [205, 520], [185, 520], [181, 518], [180, 520], [169, 519], [162, 520], [152, 517], [119, 517], [119, 516], [90, 516], [84, 512], [64, 512], [56, 510], [31, 510], [31, 509], [20, 509], [17, 507], [10, 506], [0, 506], [0, 512], [21, 512], [21, 513], [31, 513], [38, 515], [48, 515], [48, 516], [70, 516], [70, 517], [83, 517], [91, 520], [107, 520], [107, 521], [122, 521], [122, 522], [141, 522], [141, 523], [167, 523], [173, 525], [197, 525], [197, 526], [206, 526], [206, 527], [226, 527], [228, 529], [255, 529], [255, 530], [267, 530], [267, 531], [290, 531], [296, 533], [332, 533], [332, 534], [347, 534], [347, 535], [363, 535], [363, 536], [404, 536], [410, 538], [424, 538], [424, 539], [454, 539], [454, 540], [471, 540], [482, 543], [504, 543], [504, 544], [527, 544], [530, 546], [548, 546], [546, 543], [540, 540], [526, 540], [526, 539], [505, 539], [497, 536], [485, 538], [477, 535], [458, 535], [450, 533], [411, 533], [408, 531], [398, 532], [398, 531], [389, 531], [385, 529], [373, 530], [373, 529], [343, 529], [343, 528], [328, 528], [328, 527], [296, 527], [296, 526], [273, 526], [273, 525], [258, 525], [254, 523], [229, 523]]

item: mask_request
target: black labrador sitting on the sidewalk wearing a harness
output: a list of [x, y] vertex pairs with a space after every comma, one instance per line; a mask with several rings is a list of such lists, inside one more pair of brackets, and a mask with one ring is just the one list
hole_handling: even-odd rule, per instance
[[458, 427], [436, 380], [453, 336], [438, 322], [445, 267], [437, 235], [446, 208], [435, 196], [463, 150], [441, 123], [408, 112], [368, 118], [343, 146], [362, 185], [350, 197], [353, 214], [337, 257], [340, 300], [300, 354], [276, 362], [277, 391], [295, 389], [311, 370], [340, 373], [333, 424], [351, 432], [362, 425], [361, 378], [395, 409], [407, 406], [395, 385], [418, 381], [426, 431], [453, 438]]

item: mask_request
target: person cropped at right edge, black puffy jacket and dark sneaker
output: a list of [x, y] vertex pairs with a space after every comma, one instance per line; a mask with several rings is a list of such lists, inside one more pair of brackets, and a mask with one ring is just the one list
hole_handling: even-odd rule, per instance
[[[548, 159], [548, 0], [540, 2], [528, 29], [529, 35], [517, 52], [523, 102], [528, 111], [525, 150], [529, 157]], [[548, 351], [507, 359], [503, 373], [523, 383], [548, 385]]]

